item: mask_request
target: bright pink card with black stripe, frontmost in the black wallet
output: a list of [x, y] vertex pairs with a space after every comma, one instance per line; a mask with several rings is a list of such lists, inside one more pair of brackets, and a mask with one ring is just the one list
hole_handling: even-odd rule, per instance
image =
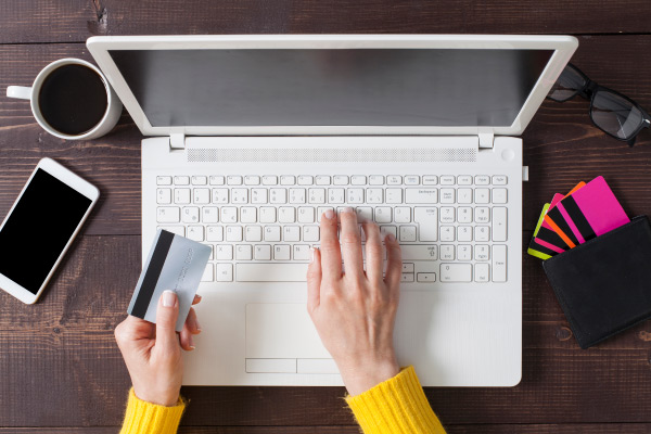
[[603, 177], [562, 199], [547, 216], [576, 244], [630, 221]]

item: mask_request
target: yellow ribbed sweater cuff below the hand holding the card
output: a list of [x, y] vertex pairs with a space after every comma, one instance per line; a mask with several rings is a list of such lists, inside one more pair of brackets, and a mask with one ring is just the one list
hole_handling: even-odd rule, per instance
[[176, 434], [184, 409], [181, 399], [174, 407], [157, 406], [139, 399], [131, 388], [119, 434]]

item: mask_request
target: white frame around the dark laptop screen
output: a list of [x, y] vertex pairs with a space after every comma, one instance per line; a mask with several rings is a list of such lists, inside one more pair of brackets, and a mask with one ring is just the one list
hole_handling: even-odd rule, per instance
[[[330, 136], [330, 135], [478, 135], [520, 136], [576, 50], [572, 36], [535, 35], [210, 35], [100, 36], [87, 47], [144, 136]], [[166, 126], [150, 124], [133, 92], [113, 61], [111, 50], [182, 49], [534, 49], [554, 50], [511, 126]]]

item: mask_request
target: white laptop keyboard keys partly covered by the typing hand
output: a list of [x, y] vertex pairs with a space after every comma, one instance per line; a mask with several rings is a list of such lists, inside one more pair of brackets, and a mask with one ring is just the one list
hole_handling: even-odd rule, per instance
[[213, 247], [202, 281], [305, 281], [321, 214], [346, 206], [399, 241], [403, 282], [507, 281], [506, 176], [158, 176], [156, 184], [158, 228]]

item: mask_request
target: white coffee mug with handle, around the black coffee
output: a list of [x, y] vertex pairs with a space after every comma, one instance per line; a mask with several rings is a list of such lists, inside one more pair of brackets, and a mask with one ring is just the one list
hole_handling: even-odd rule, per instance
[[[104, 84], [104, 88], [106, 89], [107, 103], [104, 116], [94, 127], [77, 136], [71, 136], [52, 128], [43, 118], [39, 107], [38, 98], [43, 81], [54, 69], [64, 65], [82, 65], [89, 67], [100, 76], [102, 82]], [[40, 73], [38, 73], [30, 88], [24, 86], [9, 86], [7, 88], [7, 95], [9, 98], [29, 100], [31, 103], [31, 113], [34, 114], [36, 122], [38, 122], [38, 124], [52, 136], [67, 140], [97, 139], [98, 137], [104, 136], [105, 133], [111, 131], [113, 127], [115, 127], [115, 124], [117, 124], [117, 122], [119, 120], [119, 116], [122, 115], [123, 108], [122, 102], [111, 88], [111, 85], [108, 85], [108, 81], [106, 80], [106, 77], [104, 77], [104, 74], [102, 74], [102, 72], [92, 63], [82, 61], [80, 59], [61, 59], [55, 62], [52, 62], [48, 66], [46, 66]]]

